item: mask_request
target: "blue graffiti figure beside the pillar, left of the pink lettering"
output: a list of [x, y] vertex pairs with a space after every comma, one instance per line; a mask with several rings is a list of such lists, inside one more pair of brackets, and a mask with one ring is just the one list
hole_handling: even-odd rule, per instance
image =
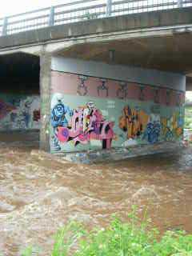
[[58, 142], [58, 126], [68, 126], [66, 114], [72, 116], [73, 111], [70, 110], [69, 106], [65, 106], [61, 101], [58, 101], [58, 104], [54, 106], [51, 111], [51, 126], [54, 127], [54, 148], [57, 151], [61, 150], [61, 146], [59, 146]]

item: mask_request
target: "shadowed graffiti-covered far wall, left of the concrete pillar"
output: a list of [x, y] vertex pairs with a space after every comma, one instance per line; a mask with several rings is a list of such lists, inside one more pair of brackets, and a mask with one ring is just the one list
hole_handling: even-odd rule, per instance
[[0, 131], [40, 128], [38, 95], [0, 94]]

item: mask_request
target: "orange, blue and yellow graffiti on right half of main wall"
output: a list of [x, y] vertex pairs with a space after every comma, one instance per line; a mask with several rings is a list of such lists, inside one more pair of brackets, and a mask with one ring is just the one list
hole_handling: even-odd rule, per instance
[[[154, 106], [151, 110], [156, 111]], [[125, 106], [122, 113], [118, 126], [126, 133], [127, 141], [123, 145], [137, 145], [138, 139], [154, 144], [161, 140], [173, 141], [182, 136], [184, 121], [180, 112], [174, 113], [170, 118], [161, 118], [160, 114], [149, 115], [143, 110]]]

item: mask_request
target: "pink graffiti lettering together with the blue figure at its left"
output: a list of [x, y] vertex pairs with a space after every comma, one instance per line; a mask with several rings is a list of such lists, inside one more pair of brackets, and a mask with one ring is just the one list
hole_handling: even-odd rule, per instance
[[[56, 110], [56, 111], [55, 111]], [[66, 120], [66, 111], [70, 111], [70, 121]], [[56, 118], [56, 119], [55, 119]], [[57, 120], [55, 122], [55, 120]], [[103, 149], [110, 149], [114, 138], [114, 122], [106, 121], [102, 113], [94, 107], [94, 102], [88, 102], [86, 106], [71, 110], [61, 103], [52, 110], [52, 126], [54, 127], [54, 147], [61, 150], [59, 143], [74, 142], [87, 144], [90, 140], [102, 141]]]

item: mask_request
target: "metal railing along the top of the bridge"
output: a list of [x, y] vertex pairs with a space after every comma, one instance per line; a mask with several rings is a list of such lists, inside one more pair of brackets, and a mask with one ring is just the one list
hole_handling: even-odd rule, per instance
[[80, 0], [0, 18], [0, 36], [46, 26], [192, 6], [192, 0]]

